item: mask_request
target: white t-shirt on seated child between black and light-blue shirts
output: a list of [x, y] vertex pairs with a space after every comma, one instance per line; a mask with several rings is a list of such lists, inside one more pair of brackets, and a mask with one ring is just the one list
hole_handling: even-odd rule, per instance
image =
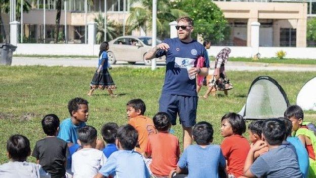
[[105, 162], [102, 151], [84, 148], [72, 155], [71, 171], [76, 178], [94, 177]]

